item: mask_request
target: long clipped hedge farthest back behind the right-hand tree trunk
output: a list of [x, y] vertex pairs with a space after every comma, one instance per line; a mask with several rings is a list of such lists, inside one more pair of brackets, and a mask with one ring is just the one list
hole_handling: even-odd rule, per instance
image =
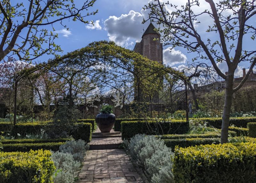
[[[191, 118], [191, 120], [202, 120], [208, 122], [209, 125], [221, 129], [222, 118]], [[237, 127], [246, 128], [247, 123], [256, 122], [256, 117], [231, 117], [229, 124], [234, 124]]]

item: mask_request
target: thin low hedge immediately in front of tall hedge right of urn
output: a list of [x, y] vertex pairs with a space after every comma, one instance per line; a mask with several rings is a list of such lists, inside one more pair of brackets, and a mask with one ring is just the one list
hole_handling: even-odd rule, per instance
[[[234, 137], [236, 132], [229, 131], [229, 134]], [[159, 139], [186, 139], [186, 138], [220, 138], [219, 131], [208, 131], [202, 134], [167, 134], [167, 135], [156, 135]]]

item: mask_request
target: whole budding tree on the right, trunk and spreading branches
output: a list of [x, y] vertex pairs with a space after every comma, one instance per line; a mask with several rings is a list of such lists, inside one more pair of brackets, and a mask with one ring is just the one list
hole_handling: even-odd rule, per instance
[[[162, 26], [161, 30], [159, 28], [158, 31], [164, 33], [164, 41], [167, 44], [171, 44], [173, 47], [183, 46], [188, 52], [198, 53], [194, 60], [197, 58], [210, 60], [218, 75], [225, 80], [226, 91], [221, 143], [226, 143], [228, 142], [233, 93], [242, 87], [256, 63], [256, 50], [252, 47], [247, 50], [243, 44], [245, 38], [254, 40], [256, 37], [256, 28], [252, 24], [252, 19], [256, 14], [256, 1], [230, 0], [220, 1], [218, 4], [214, 3], [213, 0], [205, 0], [205, 2], [211, 7], [210, 10], [200, 10], [198, 0], [188, 0], [181, 7], [171, 4], [169, 1], [163, 3], [157, 0], [145, 5], [145, 9], [150, 9], [148, 20], [156, 21]], [[170, 8], [172, 11], [169, 11]], [[194, 8], [198, 8], [200, 12], [195, 13]], [[227, 11], [231, 12], [228, 16], [225, 14]], [[209, 27], [206, 30], [208, 36], [202, 36], [197, 31], [195, 25], [199, 25], [200, 20], [209, 22]], [[216, 33], [218, 37], [214, 38]], [[248, 39], [246, 40], [248, 41]], [[234, 88], [234, 73], [241, 61], [250, 63], [249, 71], [241, 83]], [[218, 62], [227, 64], [227, 76], [221, 72]]]

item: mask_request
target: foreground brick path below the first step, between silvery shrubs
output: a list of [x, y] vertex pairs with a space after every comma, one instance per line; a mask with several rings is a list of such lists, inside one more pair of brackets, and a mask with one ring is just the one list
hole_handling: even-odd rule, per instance
[[89, 150], [77, 182], [148, 182], [122, 149]]

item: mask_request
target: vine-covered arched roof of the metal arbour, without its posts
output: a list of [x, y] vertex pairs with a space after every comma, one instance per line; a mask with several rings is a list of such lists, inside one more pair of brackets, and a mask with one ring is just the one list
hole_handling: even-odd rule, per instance
[[[106, 66], [115, 68], [114, 71], [116, 73], [113, 73], [113, 70], [109, 71], [106, 69]], [[84, 48], [69, 52], [60, 58], [48, 60], [47, 63], [40, 63], [33, 68], [23, 71], [21, 75], [28, 75], [36, 70], [40, 70], [42, 73], [54, 72], [61, 76], [62, 72], [74, 71], [76, 73], [82, 73], [85, 76], [90, 75], [99, 79], [100, 82], [108, 84], [108, 81], [118, 77], [118, 69], [123, 69], [131, 73], [139, 83], [138, 87], [140, 87], [140, 82], [154, 74], [160, 74], [162, 76], [169, 74], [186, 80], [186, 76], [183, 73], [108, 41], [93, 42]], [[70, 90], [72, 90], [72, 80], [70, 86]], [[70, 95], [72, 96], [71, 92]], [[140, 105], [140, 97], [138, 99], [138, 105]]]

